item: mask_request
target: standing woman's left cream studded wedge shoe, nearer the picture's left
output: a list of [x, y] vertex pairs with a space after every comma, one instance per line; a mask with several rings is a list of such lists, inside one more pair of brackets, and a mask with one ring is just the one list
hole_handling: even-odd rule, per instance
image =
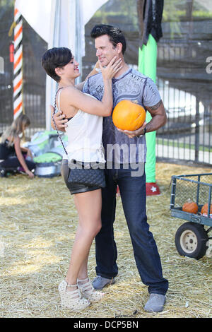
[[65, 280], [61, 281], [58, 290], [61, 297], [61, 307], [73, 311], [80, 311], [90, 305], [90, 301], [82, 297], [80, 290], [77, 288], [73, 291], [67, 291], [66, 287], [77, 287], [78, 285], [68, 285]]

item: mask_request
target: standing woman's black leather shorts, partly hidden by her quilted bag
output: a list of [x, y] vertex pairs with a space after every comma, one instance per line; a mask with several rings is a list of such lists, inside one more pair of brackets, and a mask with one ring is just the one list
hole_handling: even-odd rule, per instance
[[68, 160], [63, 159], [61, 161], [61, 175], [64, 178], [66, 187], [69, 189], [71, 195], [78, 194], [78, 193], [84, 193], [86, 191], [93, 191], [96, 189], [101, 189], [99, 186], [84, 186], [83, 184], [69, 183], [68, 182], [69, 172], [71, 172], [71, 170], [69, 169]]

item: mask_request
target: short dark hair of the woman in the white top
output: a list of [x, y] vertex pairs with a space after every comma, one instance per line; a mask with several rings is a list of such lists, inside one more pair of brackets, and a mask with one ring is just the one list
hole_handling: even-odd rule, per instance
[[59, 82], [60, 77], [55, 73], [55, 68], [66, 66], [73, 58], [71, 50], [66, 47], [54, 47], [48, 49], [42, 56], [42, 66], [47, 74]]

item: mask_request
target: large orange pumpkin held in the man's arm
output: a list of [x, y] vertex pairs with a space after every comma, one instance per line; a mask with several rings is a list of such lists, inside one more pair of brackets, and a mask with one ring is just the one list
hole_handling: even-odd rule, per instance
[[122, 130], [134, 131], [139, 129], [146, 119], [145, 109], [131, 102], [130, 100], [122, 100], [118, 102], [112, 113], [112, 121], [114, 125]]

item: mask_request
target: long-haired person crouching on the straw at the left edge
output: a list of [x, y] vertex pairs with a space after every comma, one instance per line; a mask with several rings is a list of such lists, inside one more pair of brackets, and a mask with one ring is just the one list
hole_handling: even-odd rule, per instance
[[30, 179], [33, 179], [32, 170], [35, 169], [35, 162], [25, 160], [27, 157], [33, 158], [32, 153], [28, 148], [20, 146], [20, 139], [25, 136], [24, 131], [28, 126], [30, 126], [30, 119], [27, 115], [21, 114], [2, 135], [0, 160], [4, 161], [0, 163], [0, 169], [23, 167], [25, 173], [28, 174]]

